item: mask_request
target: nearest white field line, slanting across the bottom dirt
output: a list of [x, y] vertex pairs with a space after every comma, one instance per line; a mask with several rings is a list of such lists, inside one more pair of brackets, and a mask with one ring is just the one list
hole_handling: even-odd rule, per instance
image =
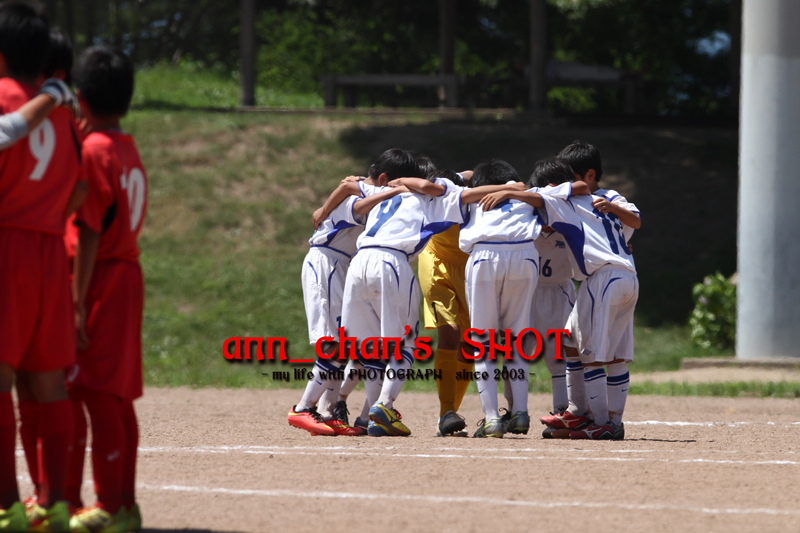
[[490, 499], [486, 497], [470, 496], [425, 496], [415, 494], [376, 494], [376, 493], [357, 493], [357, 492], [328, 492], [328, 491], [298, 491], [298, 490], [255, 490], [255, 489], [226, 489], [216, 487], [189, 487], [183, 485], [149, 485], [138, 484], [137, 487], [149, 491], [168, 491], [168, 492], [190, 492], [200, 494], [231, 494], [236, 496], [267, 496], [276, 498], [327, 498], [334, 500], [398, 500], [408, 502], [421, 502], [428, 504], [461, 503], [461, 504], [483, 504], [492, 506], [507, 507], [536, 507], [544, 509], [555, 508], [585, 508], [585, 509], [620, 509], [624, 511], [667, 511], [689, 512], [713, 515], [772, 515], [772, 516], [800, 516], [800, 510], [784, 510], [769, 508], [713, 508], [713, 507], [687, 507], [679, 505], [635, 505], [615, 502], [546, 502], [532, 500], [502, 500]]

